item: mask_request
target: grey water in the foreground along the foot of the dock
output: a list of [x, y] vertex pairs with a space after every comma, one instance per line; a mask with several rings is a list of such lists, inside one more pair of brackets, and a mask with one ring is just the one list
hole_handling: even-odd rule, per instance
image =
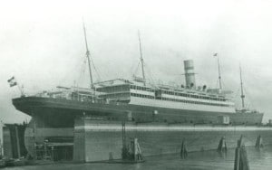
[[[249, 166], [251, 170], [272, 169], [272, 146], [261, 149], [247, 147]], [[164, 170], [164, 169], [188, 169], [188, 170], [233, 170], [235, 150], [228, 150], [227, 154], [219, 154], [216, 151], [204, 151], [189, 153], [186, 159], [180, 159], [180, 155], [150, 156], [145, 157], [146, 162], [140, 164], [55, 164], [55, 165], [29, 165], [21, 167], [7, 167], [10, 170]]]

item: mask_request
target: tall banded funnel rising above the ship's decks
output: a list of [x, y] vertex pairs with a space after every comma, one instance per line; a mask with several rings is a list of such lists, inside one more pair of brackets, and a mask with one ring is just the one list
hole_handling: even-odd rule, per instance
[[194, 61], [184, 61], [185, 82], [186, 87], [190, 89], [196, 89], [196, 80], [194, 72]]

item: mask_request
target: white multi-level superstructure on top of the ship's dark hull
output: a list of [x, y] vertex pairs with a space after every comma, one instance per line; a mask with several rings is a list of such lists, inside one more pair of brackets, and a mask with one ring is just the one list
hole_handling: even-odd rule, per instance
[[131, 80], [108, 80], [96, 84], [100, 98], [125, 102], [133, 105], [167, 109], [188, 109], [198, 111], [234, 113], [234, 103], [225, 95], [171, 86], [153, 86]]

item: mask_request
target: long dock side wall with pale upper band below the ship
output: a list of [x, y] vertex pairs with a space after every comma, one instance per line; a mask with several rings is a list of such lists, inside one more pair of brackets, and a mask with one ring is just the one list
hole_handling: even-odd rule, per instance
[[[180, 153], [182, 140], [189, 152], [216, 149], [221, 137], [228, 147], [245, 137], [246, 146], [255, 146], [260, 135], [264, 145], [272, 144], [272, 127], [179, 126], [126, 123], [126, 144], [139, 139], [143, 156]], [[96, 162], [121, 158], [121, 122], [79, 118], [74, 125], [73, 161]]]

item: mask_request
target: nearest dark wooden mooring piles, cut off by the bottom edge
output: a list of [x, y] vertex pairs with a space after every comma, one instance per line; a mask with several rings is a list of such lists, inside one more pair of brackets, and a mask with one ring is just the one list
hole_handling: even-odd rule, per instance
[[243, 136], [238, 139], [237, 148], [235, 149], [234, 170], [249, 170], [248, 154]]

